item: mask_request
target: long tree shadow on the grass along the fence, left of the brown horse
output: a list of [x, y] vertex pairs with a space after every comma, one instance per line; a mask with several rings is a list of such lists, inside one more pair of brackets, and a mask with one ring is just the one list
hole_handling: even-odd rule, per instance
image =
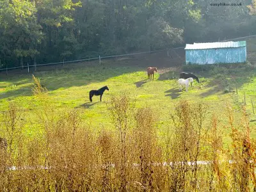
[[[160, 53], [159, 53], [160, 54]], [[86, 86], [91, 83], [100, 83], [106, 81], [111, 77], [121, 76], [123, 74], [129, 74], [141, 70], [147, 70], [148, 63], [156, 67], [168, 65], [170, 66], [169, 58], [165, 55], [159, 56], [159, 54], [149, 54], [147, 56], [134, 57], [131, 60], [103, 60], [101, 65], [99, 61], [88, 61], [81, 63], [72, 63], [67, 65], [51, 65], [37, 67], [36, 71], [31, 68], [31, 72], [28, 74], [26, 70], [11, 70], [8, 75], [4, 72], [0, 72], [0, 79], [8, 84], [24, 84], [29, 83], [28, 86], [17, 88], [15, 90], [9, 90], [8, 92], [1, 92], [0, 99], [6, 99], [8, 97], [19, 97], [31, 95], [32, 74], [40, 79], [40, 82], [45, 85], [47, 90], [54, 91], [60, 88], [66, 89], [72, 86]], [[147, 81], [146, 81], [147, 82]], [[145, 81], [139, 81], [136, 83], [137, 87], [146, 83]], [[1, 88], [5, 88], [5, 85], [1, 84]]]

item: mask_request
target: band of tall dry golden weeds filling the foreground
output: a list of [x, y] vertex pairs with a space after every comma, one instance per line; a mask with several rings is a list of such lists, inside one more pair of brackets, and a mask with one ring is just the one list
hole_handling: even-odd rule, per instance
[[[47, 95], [40, 97], [47, 100]], [[223, 148], [218, 116], [205, 127], [204, 104], [181, 100], [164, 142], [157, 116], [133, 108], [127, 95], [109, 102], [115, 131], [95, 134], [75, 109], [51, 101], [38, 114], [41, 135], [26, 138], [23, 111], [10, 102], [1, 116], [8, 148], [0, 149], [1, 191], [251, 191], [256, 188], [255, 142], [243, 108], [241, 125], [227, 106], [231, 148]], [[228, 163], [228, 160], [231, 160]], [[208, 164], [196, 163], [207, 161]], [[16, 166], [18, 170], [9, 170]]]

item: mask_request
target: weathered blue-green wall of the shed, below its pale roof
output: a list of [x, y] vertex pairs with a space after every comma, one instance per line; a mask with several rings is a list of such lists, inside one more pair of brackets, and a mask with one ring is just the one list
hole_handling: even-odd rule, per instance
[[245, 61], [246, 47], [186, 50], [187, 64], [205, 65], [215, 63], [243, 63]]

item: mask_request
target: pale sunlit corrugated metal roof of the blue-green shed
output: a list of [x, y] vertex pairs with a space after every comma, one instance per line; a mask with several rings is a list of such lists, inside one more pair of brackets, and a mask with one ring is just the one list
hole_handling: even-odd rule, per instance
[[227, 47], [244, 47], [246, 41], [241, 42], [214, 42], [214, 43], [194, 43], [186, 44], [185, 49], [216, 49], [216, 48], [227, 48]]

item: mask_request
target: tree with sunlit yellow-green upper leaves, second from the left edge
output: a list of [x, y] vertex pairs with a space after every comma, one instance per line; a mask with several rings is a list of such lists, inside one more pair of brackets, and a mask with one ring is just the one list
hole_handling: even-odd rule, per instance
[[[75, 54], [74, 12], [80, 2], [72, 0], [35, 0], [38, 23], [45, 33], [44, 61], [65, 59]], [[47, 56], [47, 58], [45, 58]]]

